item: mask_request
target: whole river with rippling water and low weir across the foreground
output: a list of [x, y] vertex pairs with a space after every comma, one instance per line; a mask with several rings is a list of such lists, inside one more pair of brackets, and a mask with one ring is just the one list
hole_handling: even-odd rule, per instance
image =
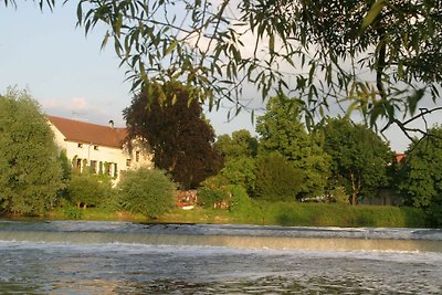
[[442, 294], [442, 231], [0, 221], [0, 294]]

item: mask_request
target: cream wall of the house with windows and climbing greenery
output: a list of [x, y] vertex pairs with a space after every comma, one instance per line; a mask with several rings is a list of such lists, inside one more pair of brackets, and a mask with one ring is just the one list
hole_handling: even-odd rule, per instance
[[[94, 144], [66, 141], [64, 135], [54, 125], [50, 123], [50, 126], [54, 133], [55, 144], [60, 150], [66, 151], [66, 157], [74, 168], [83, 169], [84, 160], [86, 160], [87, 166], [94, 166], [93, 161], [95, 161], [95, 171], [98, 173], [102, 170], [104, 173], [115, 177], [114, 183], [117, 183], [122, 171], [137, 169], [141, 166], [154, 167], [152, 154], [146, 150], [137, 140], [133, 141], [130, 150], [128, 147], [120, 149]], [[108, 164], [108, 171], [105, 171], [105, 162]]]

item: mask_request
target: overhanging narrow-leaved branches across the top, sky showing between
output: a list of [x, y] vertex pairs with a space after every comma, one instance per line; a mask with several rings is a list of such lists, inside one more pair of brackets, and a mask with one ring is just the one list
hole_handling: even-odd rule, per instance
[[[178, 80], [236, 110], [252, 84], [262, 99], [297, 97], [307, 125], [338, 104], [406, 134], [442, 109], [439, 0], [80, 0], [77, 19], [86, 33], [106, 24], [103, 46], [113, 43], [135, 92]], [[436, 107], [419, 113], [424, 96]]]

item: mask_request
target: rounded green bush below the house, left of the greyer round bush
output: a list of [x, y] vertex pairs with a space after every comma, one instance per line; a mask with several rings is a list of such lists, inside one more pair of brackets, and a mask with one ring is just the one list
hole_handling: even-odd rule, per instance
[[110, 178], [88, 172], [74, 172], [69, 181], [67, 191], [70, 200], [80, 207], [101, 207], [105, 206], [107, 199], [113, 198]]

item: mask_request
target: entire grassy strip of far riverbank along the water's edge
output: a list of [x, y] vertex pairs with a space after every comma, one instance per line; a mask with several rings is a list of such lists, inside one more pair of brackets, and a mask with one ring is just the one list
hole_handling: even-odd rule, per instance
[[108, 212], [96, 208], [52, 210], [50, 220], [130, 221], [152, 223], [243, 223], [291, 226], [341, 226], [341, 228], [425, 228], [422, 211], [407, 207], [341, 206], [326, 203], [255, 202], [240, 210], [173, 209], [157, 219], [147, 219], [129, 212]]

